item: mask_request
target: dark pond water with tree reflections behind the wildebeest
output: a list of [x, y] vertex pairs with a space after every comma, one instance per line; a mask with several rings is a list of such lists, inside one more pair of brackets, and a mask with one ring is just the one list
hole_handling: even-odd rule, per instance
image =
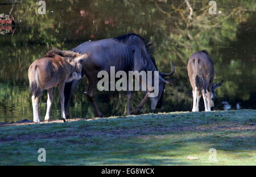
[[[38, 14], [36, 1], [3, 5], [0, 14], [15, 17], [15, 29], [0, 35], [0, 122], [32, 120], [31, 94], [27, 69], [32, 61], [49, 49], [71, 49], [88, 40], [100, 40], [134, 32], [155, 44], [156, 64], [160, 71], [176, 65], [175, 82], [166, 87], [162, 109], [148, 112], [190, 111], [192, 88], [187, 77], [187, 61], [193, 52], [207, 49], [213, 57], [217, 90], [216, 107], [255, 109], [256, 98], [256, 21], [253, 1], [217, 1], [217, 15], [208, 13], [209, 1], [188, 1], [191, 19], [184, 1], [46, 1], [46, 15]], [[1, 28], [3, 30], [3, 28]], [[9, 31], [8, 31], [9, 30]], [[94, 116], [93, 107], [84, 95], [84, 77], [71, 104], [71, 117]], [[59, 119], [57, 88], [52, 119]], [[133, 108], [143, 92], [133, 92]], [[126, 113], [125, 92], [96, 91], [96, 100], [106, 116]], [[40, 117], [46, 112], [47, 94], [40, 99]], [[201, 100], [203, 110], [203, 99]], [[43, 120], [43, 119], [42, 119]]]

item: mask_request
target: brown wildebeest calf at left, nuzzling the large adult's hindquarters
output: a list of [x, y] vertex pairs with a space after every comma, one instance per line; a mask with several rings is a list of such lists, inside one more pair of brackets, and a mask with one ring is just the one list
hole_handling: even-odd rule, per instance
[[64, 111], [64, 86], [65, 82], [81, 79], [82, 61], [89, 53], [79, 54], [70, 50], [50, 50], [46, 57], [32, 62], [28, 68], [30, 90], [32, 92], [32, 106], [34, 122], [40, 123], [38, 102], [42, 92], [48, 90], [47, 112], [44, 120], [48, 122], [52, 104], [52, 89], [59, 87], [61, 118], [66, 121]]

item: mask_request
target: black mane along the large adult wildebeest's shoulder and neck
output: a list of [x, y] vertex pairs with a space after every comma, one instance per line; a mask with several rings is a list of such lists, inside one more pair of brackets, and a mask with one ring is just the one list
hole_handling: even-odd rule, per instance
[[155, 62], [155, 57], [154, 57], [155, 48], [154, 48], [154, 45], [151, 43], [151, 41], [149, 39], [144, 39], [143, 37], [141, 37], [141, 36], [139, 36], [135, 33], [127, 33], [125, 35], [115, 37], [114, 40], [117, 40], [120, 43], [126, 44], [129, 41], [131, 36], [137, 36], [142, 40], [142, 42], [143, 42], [143, 44], [144, 44], [144, 46], [145, 46], [145, 48], [146, 48], [146, 50], [147, 50], [147, 52], [150, 56], [151, 61], [155, 65], [155, 68], [158, 70], [158, 68], [156, 66], [156, 62]]

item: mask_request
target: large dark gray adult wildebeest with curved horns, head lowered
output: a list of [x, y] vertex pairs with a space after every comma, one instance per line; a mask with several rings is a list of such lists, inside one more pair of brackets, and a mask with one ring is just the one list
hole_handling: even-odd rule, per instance
[[[143, 37], [128, 33], [111, 39], [103, 39], [98, 41], [87, 41], [71, 49], [74, 52], [86, 53], [90, 52], [90, 56], [82, 63], [82, 74], [88, 78], [88, 96], [92, 103], [97, 116], [103, 117], [102, 112], [97, 106], [93, 98], [93, 92], [98, 82], [98, 72], [107, 71], [110, 73], [110, 66], [115, 66], [117, 71], [158, 71], [155, 59], [152, 55], [153, 48], [149, 40]], [[150, 97], [151, 109], [162, 107], [163, 90], [165, 83], [169, 83], [168, 77], [175, 72], [175, 67], [170, 73], [159, 73], [159, 94], [156, 97]], [[68, 107], [73, 90], [79, 81], [72, 81], [65, 85], [65, 113], [68, 115]], [[147, 90], [142, 102], [138, 105], [136, 113], [142, 110], [148, 95], [152, 90]], [[130, 111], [131, 91], [127, 91], [127, 115]]]

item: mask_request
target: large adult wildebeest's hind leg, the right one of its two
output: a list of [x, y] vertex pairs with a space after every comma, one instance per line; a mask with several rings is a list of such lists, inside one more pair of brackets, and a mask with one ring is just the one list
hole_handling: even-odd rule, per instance
[[94, 100], [93, 98], [93, 92], [95, 90], [95, 87], [97, 85], [97, 81], [98, 81], [98, 78], [92, 78], [92, 79], [89, 79], [88, 78], [88, 81], [89, 81], [89, 87], [88, 87], [88, 92], [87, 92], [87, 96], [90, 100], [90, 103], [92, 103], [95, 111], [96, 111], [96, 114], [98, 117], [104, 117], [103, 114], [101, 113], [101, 110], [100, 108], [98, 108], [98, 105], [96, 103], [96, 101]]

